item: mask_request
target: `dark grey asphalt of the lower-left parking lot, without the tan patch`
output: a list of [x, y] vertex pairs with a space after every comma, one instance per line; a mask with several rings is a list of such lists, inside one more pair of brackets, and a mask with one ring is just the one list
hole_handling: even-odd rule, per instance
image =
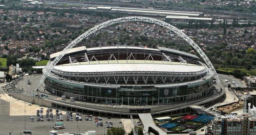
[[[30, 116], [26, 115], [24, 116], [9, 116], [9, 103], [2, 100], [1, 101], [1, 109], [0, 111], [0, 134], [9, 134], [11, 132], [12, 134], [20, 134], [25, 129], [24, 126], [26, 125], [26, 131], [31, 131], [33, 135], [44, 135], [49, 134], [49, 131], [54, 130], [53, 126], [56, 121], [56, 115], [53, 115], [54, 121], [47, 121], [45, 112], [43, 113], [44, 121], [37, 121], [36, 115], [34, 115], [35, 121], [30, 121]], [[35, 110], [36, 111], [36, 110]], [[54, 112], [55, 114], [55, 112]], [[22, 114], [21, 114], [22, 115]], [[64, 132], [76, 132], [78, 133], [85, 133], [85, 131], [88, 130], [95, 130], [96, 134], [104, 134], [107, 131], [107, 128], [105, 128], [105, 121], [112, 121], [113, 127], [122, 127], [122, 123], [119, 123], [119, 121], [122, 121], [122, 119], [119, 118], [102, 118], [103, 126], [96, 127], [95, 126], [95, 120], [93, 116], [92, 121], [85, 121], [85, 115], [83, 115], [82, 121], [76, 121], [75, 119], [73, 121], [66, 121], [66, 113], [63, 114], [63, 123], [65, 125], [65, 129], [57, 130], [59, 133]], [[24, 123], [24, 118], [26, 119], [26, 122]], [[75, 114], [73, 113], [73, 118], [75, 118]], [[136, 122], [134, 122], [136, 123]], [[78, 128], [78, 127], [79, 128]]]

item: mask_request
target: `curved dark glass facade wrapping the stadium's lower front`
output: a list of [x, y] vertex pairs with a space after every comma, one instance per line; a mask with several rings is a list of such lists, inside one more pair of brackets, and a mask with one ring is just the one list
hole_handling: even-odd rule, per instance
[[51, 94], [75, 97], [76, 100], [101, 102], [122, 105], [155, 105], [168, 104], [175, 101], [186, 101], [201, 97], [210, 92], [212, 78], [194, 84], [176, 87], [157, 88], [152, 86], [121, 86], [109, 88], [98, 84], [99, 87], [88, 84], [76, 84], [54, 78], [46, 78], [45, 86]]

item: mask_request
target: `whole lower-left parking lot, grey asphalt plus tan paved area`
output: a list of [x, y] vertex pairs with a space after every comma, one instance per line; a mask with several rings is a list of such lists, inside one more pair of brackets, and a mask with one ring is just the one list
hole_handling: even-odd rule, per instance
[[[2, 91], [3, 92], [3, 91]], [[92, 116], [92, 120], [91, 121], [86, 121], [85, 118], [87, 115], [82, 114], [82, 120], [81, 121], [76, 121], [76, 113], [72, 114], [73, 117], [73, 121], [66, 121], [66, 112], [62, 112], [63, 114], [63, 121], [56, 121], [56, 110], [53, 110], [53, 119], [54, 121], [47, 121], [46, 118], [46, 111], [47, 108], [43, 109], [43, 118], [44, 121], [37, 121], [37, 110], [40, 110], [39, 106], [35, 106], [35, 105], [28, 105], [26, 104], [26, 110], [28, 110], [28, 112], [26, 111], [26, 115], [24, 116], [25, 112], [24, 112], [24, 102], [23, 104], [17, 104], [17, 108], [15, 110], [15, 106], [12, 106], [10, 108], [10, 102], [7, 102], [3, 99], [3, 97], [8, 98], [8, 100], [13, 101], [12, 104], [14, 104], [14, 102], [23, 102], [23, 101], [17, 101], [16, 99], [14, 99], [13, 97], [9, 97], [6, 95], [3, 95], [1, 93], [1, 98], [0, 98], [0, 134], [8, 134], [9, 132], [11, 132], [12, 134], [21, 134], [24, 130], [26, 131], [31, 131], [33, 135], [49, 135], [49, 131], [54, 130], [54, 123], [55, 122], [63, 122], [65, 125], [65, 129], [62, 130], [57, 130], [58, 133], [65, 133], [65, 132], [71, 132], [71, 133], [85, 133], [85, 131], [88, 130], [95, 130], [96, 134], [101, 135], [105, 134], [107, 132], [106, 128], [106, 124], [105, 121], [107, 121], [108, 123], [113, 123], [113, 127], [124, 127], [125, 129], [127, 129], [128, 132], [130, 132], [131, 128], [129, 127], [129, 124], [127, 124], [128, 122], [130, 122], [130, 119], [125, 118], [125, 119], [120, 119], [120, 118], [106, 118], [106, 117], [101, 117], [102, 118], [102, 126], [96, 127], [95, 126], [95, 116]], [[16, 104], [15, 104], [16, 105]], [[24, 106], [23, 106], [24, 105]], [[10, 112], [14, 112], [13, 114], [15, 115], [10, 115]], [[19, 114], [19, 115], [17, 115]], [[34, 117], [34, 122], [31, 122], [30, 120], [30, 115], [33, 115]], [[26, 121], [24, 121], [24, 119], [26, 119]], [[111, 122], [110, 122], [111, 121]], [[119, 121], [121, 121], [122, 123], [119, 123]], [[123, 123], [126, 123], [125, 126], [123, 126]], [[137, 123], [137, 119], [134, 119], [134, 124]], [[110, 125], [110, 124], [109, 124]], [[26, 127], [26, 129], [25, 129]], [[79, 128], [78, 128], [79, 127]]]

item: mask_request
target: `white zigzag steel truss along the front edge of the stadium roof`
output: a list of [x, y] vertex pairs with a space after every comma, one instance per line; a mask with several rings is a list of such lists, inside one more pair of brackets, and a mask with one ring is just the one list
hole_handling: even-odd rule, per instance
[[[132, 57], [130, 55], [130, 57]], [[100, 79], [105, 80], [106, 83], [108, 83], [109, 79], [114, 80], [116, 84], [120, 79], [123, 79], [123, 81], [127, 84], [128, 79], [131, 80], [137, 84], [138, 79], [142, 80], [145, 84], [147, 84], [148, 79], [151, 79], [154, 83], [157, 82], [157, 80], [162, 81], [163, 83], [166, 82], [166, 80], [170, 80], [170, 82], [174, 82], [174, 80], [183, 81], [184, 78], [187, 78], [190, 80], [192, 77], [197, 79], [197, 77], [202, 77], [204, 74], [208, 72], [208, 67], [201, 63], [205, 68], [202, 71], [199, 72], [145, 72], [145, 71], [135, 71], [135, 72], [65, 72], [61, 70], [57, 70], [53, 68], [51, 72], [55, 73], [57, 76], [67, 77], [68, 79], [75, 78], [76, 80], [79, 79], [85, 79], [85, 81], [89, 81], [90, 79], [93, 81], [99, 82]], [[47, 67], [49, 68], [50, 62], [47, 63]], [[44, 70], [45, 72], [45, 70]], [[90, 81], [91, 81], [90, 80]]]

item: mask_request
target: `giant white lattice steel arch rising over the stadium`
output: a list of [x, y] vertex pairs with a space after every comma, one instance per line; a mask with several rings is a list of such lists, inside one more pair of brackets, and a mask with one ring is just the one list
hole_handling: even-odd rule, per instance
[[201, 50], [201, 48], [192, 39], [190, 39], [185, 33], [183, 33], [181, 30], [177, 29], [176, 27], [172, 26], [171, 24], [169, 24], [167, 22], [164, 22], [164, 21], [161, 21], [161, 20], [158, 20], [158, 19], [154, 19], [154, 18], [150, 18], [150, 17], [129, 16], [129, 17], [121, 17], [121, 18], [116, 18], [116, 19], [112, 19], [112, 20], [109, 20], [109, 21], [105, 21], [101, 24], [98, 24], [98, 25], [94, 26], [90, 30], [87, 30], [82, 35], [80, 35], [79, 37], [75, 38], [75, 40], [73, 40], [68, 46], [66, 46], [66, 48], [63, 49], [61, 51], [61, 53], [52, 62], [50, 62], [50, 66], [45, 67], [46, 70], [45, 70], [45, 72], [44, 72], [44, 74], [43, 74], [43, 76], [42, 76], [42, 78], [41, 78], [41, 80], [38, 84], [37, 90], [39, 89], [39, 87], [41, 86], [41, 84], [43, 83], [43, 81], [45, 80], [47, 75], [49, 74], [49, 72], [51, 72], [53, 70], [53, 67], [59, 62], [59, 60], [66, 54], [66, 52], [69, 49], [74, 47], [77, 43], [79, 43], [84, 38], [91, 35], [92, 33], [94, 33], [97, 30], [100, 30], [100, 29], [105, 28], [106, 26], [109, 26], [109, 25], [112, 25], [112, 24], [116, 24], [116, 23], [120, 23], [120, 22], [128, 22], [128, 21], [150, 22], [150, 23], [154, 23], [154, 24], [163, 26], [163, 27], [165, 27], [169, 30], [172, 30], [175, 34], [177, 34], [178, 36], [180, 36], [181, 38], [186, 40], [190, 44], [190, 46], [192, 46], [199, 53], [199, 55], [203, 58], [206, 65], [208, 66], [208, 68], [213, 71], [214, 77], [215, 77], [217, 83], [220, 85], [219, 77], [218, 77], [218, 75], [216, 73], [216, 70], [214, 69], [212, 63], [208, 59], [208, 57]]

